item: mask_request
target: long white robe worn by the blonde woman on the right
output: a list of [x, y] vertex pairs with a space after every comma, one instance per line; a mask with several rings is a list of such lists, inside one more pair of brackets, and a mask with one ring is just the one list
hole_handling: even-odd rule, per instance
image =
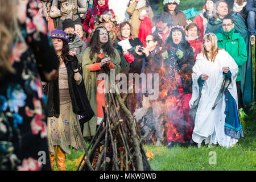
[[220, 49], [214, 62], [208, 61], [203, 56], [203, 53], [196, 57], [192, 73], [193, 92], [191, 101], [189, 101], [190, 107], [193, 106], [194, 101], [199, 97], [198, 78], [203, 73], [207, 74], [209, 78], [204, 82], [201, 92], [192, 139], [196, 143], [201, 143], [205, 139], [205, 143], [218, 143], [223, 147], [232, 147], [238, 140], [225, 135], [225, 96], [218, 102], [215, 109], [212, 109], [225, 78], [222, 73], [222, 67], [229, 67], [232, 73], [232, 81], [228, 86], [228, 90], [237, 103], [236, 77], [238, 67], [229, 53], [224, 49]]

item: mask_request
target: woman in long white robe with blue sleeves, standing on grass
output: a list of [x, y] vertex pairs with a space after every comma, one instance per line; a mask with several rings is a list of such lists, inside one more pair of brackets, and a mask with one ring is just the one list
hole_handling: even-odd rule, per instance
[[[230, 134], [225, 130], [228, 99], [224, 95], [224, 90], [225, 93], [230, 93], [237, 103], [237, 73], [238, 67], [234, 59], [224, 49], [217, 47], [216, 35], [206, 34], [203, 39], [202, 52], [197, 55], [193, 66], [193, 92], [191, 101], [189, 101], [195, 121], [192, 139], [198, 143], [199, 147], [205, 140], [206, 144], [218, 143], [228, 148], [238, 142], [237, 138], [243, 137], [242, 128], [238, 129], [239, 137], [236, 138], [228, 136]], [[202, 86], [201, 94], [199, 85]], [[220, 92], [221, 89], [223, 92]], [[236, 103], [233, 105], [236, 106]], [[237, 112], [237, 106], [235, 111]], [[239, 125], [239, 118], [237, 122]], [[241, 123], [239, 126], [241, 127]]]

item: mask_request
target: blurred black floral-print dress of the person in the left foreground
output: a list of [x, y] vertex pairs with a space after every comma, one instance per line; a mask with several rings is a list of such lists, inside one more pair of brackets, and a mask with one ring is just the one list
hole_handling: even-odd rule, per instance
[[16, 39], [10, 56], [15, 73], [0, 78], [0, 170], [51, 170], [39, 75], [57, 76], [59, 60], [36, 1], [19, 1], [18, 10], [24, 39]]

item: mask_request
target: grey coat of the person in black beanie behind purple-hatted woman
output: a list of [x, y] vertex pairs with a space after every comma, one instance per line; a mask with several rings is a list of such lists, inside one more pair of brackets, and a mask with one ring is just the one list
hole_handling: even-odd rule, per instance
[[70, 51], [75, 51], [76, 48], [76, 56], [79, 60], [79, 65], [82, 65], [82, 53], [84, 53], [86, 44], [80, 39], [79, 35], [75, 34], [75, 39], [73, 42], [69, 42]]

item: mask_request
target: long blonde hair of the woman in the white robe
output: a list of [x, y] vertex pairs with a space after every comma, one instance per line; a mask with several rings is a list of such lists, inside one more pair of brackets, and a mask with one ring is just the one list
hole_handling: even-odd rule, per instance
[[[209, 40], [210, 43], [212, 43], [212, 47], [210, 48], [210, 51], [207, 51], [207, 49], [205, 49], [204, 47], [204, 43]], [[215, 57], [218, 54], [218, 50], [220, 50], [220, 48], [218, 48], [218, 39], [217, 36], [213, 33], [208, 33], [204, 35], [203, 38], [203, 44], [201, 47], [202, 53], [204, 55], [204, 57], [206, 57], [206, 59], [209, 61], [214, 62]]]

